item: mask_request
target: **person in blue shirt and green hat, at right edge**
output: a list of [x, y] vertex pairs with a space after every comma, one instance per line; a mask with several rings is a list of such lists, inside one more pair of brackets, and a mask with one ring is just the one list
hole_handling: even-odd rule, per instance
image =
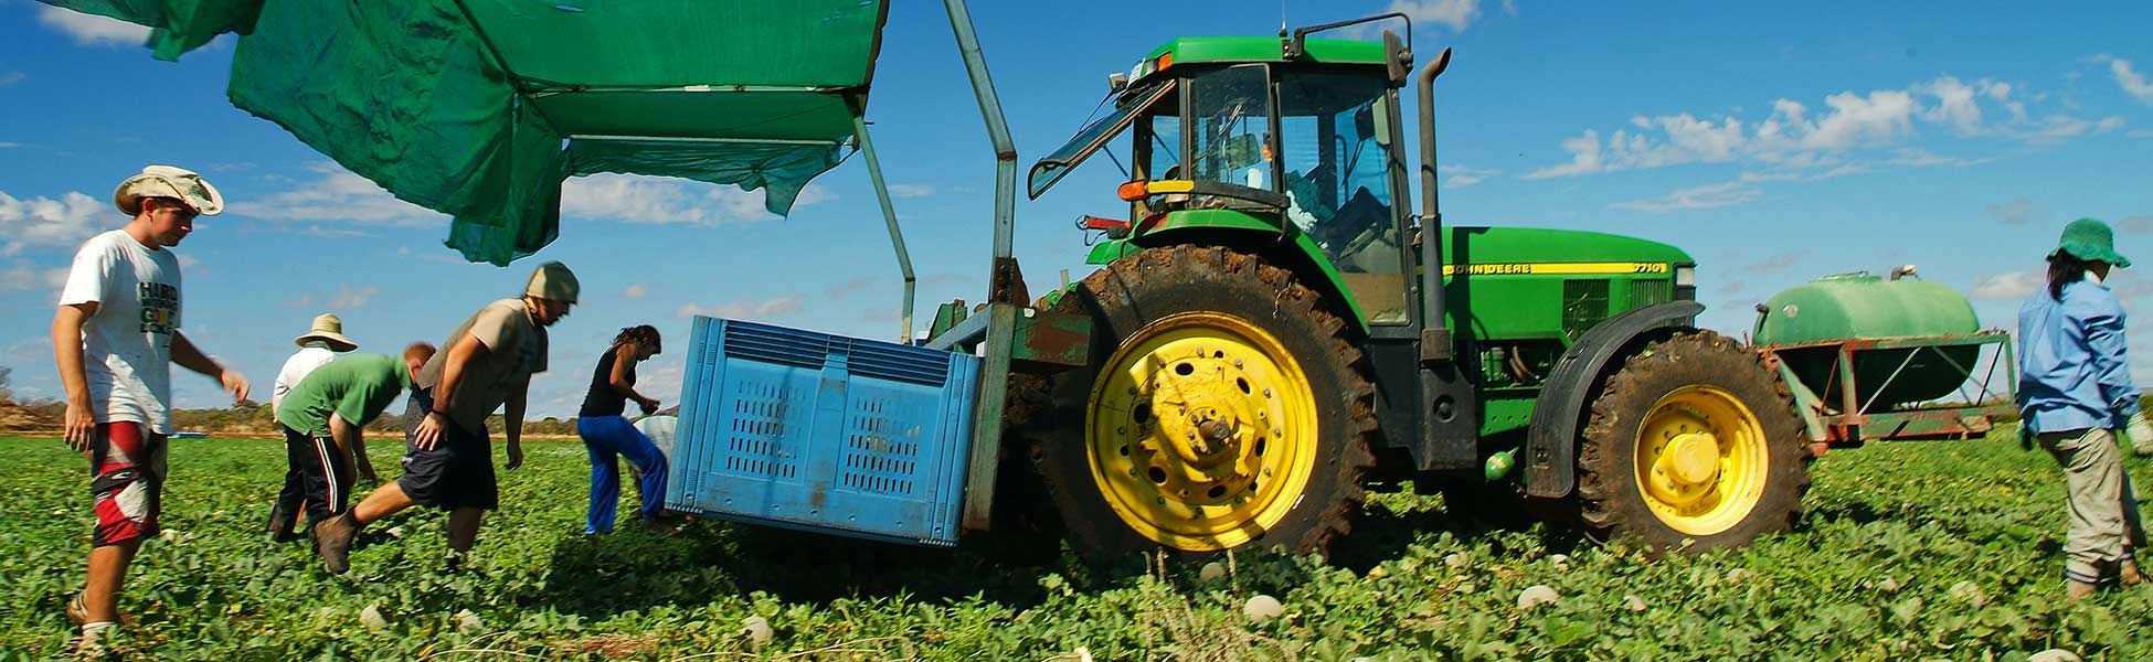
[[2153, 426], [2138, 411], [2138, 387], [2125, 357], [2123, 305], [2101, 284], [2114, 267], [2114, 230], [2097, 219], [2063, 228], [2048, 256], [2048, 288], [2020, 307], [2017, 406], [2022, 434], [2063, 464], [2071, 527], [2065, 539], [2065, 591], [2088, 598], [2114, 572], [2142, 582], [2131, 550], [2144, 546], [2138, 496], [2123, 475], [2116, 430], [2129, 428], [2140, 454], [2153, 449]]

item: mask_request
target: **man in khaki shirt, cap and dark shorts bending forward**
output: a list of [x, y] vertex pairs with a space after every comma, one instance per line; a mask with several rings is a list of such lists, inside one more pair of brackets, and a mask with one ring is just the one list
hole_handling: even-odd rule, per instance
[[508, 469], [523, 466], [523, 406], [532, 374], [545, 372], [545, 329], [568, 316], [577, 290], [566, 264], [538, 264], [523, 299], [487, 303], [441, 342], [446, 350], [411, 385], [405, 415], [418, 419], [405, 432], [405, 475], [314, 527], [329, 572], [351, 570], [362, 527], [411, 505], [448, 512], [450, 565], [461, 563], [478, 539], [480, 516], [499, 507], [487, 415], [506, 406]]

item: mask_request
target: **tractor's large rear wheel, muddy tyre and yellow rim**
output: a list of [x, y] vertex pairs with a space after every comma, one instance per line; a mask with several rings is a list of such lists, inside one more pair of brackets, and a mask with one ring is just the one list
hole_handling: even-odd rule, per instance
[[1201, 245], [1115, 260], [1061, 297], [1094, 320], [1094, 365], [1051, 378], [1029, 436], [1081, 555], [1322, 552], [1350, 531], [1376, 395], [1320, 299]]

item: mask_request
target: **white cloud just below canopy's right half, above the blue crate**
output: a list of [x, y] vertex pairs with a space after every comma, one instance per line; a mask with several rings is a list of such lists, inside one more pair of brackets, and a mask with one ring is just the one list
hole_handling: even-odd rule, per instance
[[[792, 208], [833, 200], [829, 189], [810, 185]], [[622, 224], [721, 226], [777, 219], [762, 206], [762, 189], [719, 187], [683, 178], [592, 174], [560, 187], [564, 217], [614, 219]]]

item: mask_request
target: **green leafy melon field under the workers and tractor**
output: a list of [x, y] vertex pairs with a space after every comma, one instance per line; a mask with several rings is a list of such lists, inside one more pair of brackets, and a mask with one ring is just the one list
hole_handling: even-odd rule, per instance
[[[377, 441], [375, 466], [392, 475], [396, 451]], [[1089, 570], [1014, 535], [932, 550], [700, 520], [583, 537], [583, 447], [530, 443], [463, 570], [441, 563], [444, 518], [413, 509], [329, 576], [258, 533], [282, 458], [280, 441], [174, 441], [166, 535], [121, 600], [138, 619], [125, 658], [2153, 658], [2153, 589], [2063, 600], [2063, 477], [2007, 436], [1832, 451], [1802, 524], [1742, 550], [1647, 559], [1404, 492], [1374, 494], [1328, 561], [1257, 552], [1212, 572]], [[0, 660], [65, 651], [86, 503], [80, 456], [0, 438]], [[1557, 598], [1520, 608], [1529, 587]], [[1244, 615], [1260, 595], [1277, 617]]]

